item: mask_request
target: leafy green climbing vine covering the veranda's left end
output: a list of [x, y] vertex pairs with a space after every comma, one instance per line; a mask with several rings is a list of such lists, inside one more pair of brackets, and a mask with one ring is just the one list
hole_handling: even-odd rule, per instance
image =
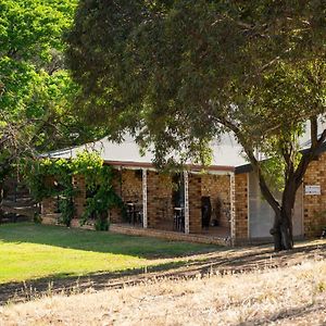
[[77, 154], [76, 159], [41, 159], [25, 162], [24, 171], [32, 196], [38, 202], [46, 198], [58, 198], [60, 223], [70, 226], [76, 210], [74, 197], [80, 191], [73, 185], [75, 175], [83, 175], [86, 183], [86, 208], [80, 218], [85, 224], [95, 217], [96, 229], [109, 229], [108, 210], [120, 208], [124, 203], [113, 188], [114, 171], [103, 165], [103, 160], [96, 152]]

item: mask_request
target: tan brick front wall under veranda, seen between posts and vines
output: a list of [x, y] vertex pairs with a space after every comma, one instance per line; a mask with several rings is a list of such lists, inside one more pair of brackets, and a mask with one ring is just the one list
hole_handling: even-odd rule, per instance
[[[80, 217], [86, 204], [86, 185], [82, 175], [73, 178], [75, 187], [79, 192], [74, 201], [76, 205], [76, 216]], [[154, 171], [147, 172], [148, 185], [148, 227], [158, 229], [173, 229], [173, 183], [172, 176]], [[123, 201], [138, 201], [142, 203], [142, 172], [135, 170], [115, 171], [113, 187]], [[189, 231], [201, 233], [201, 197], [210, 196], [212, 208], [216, 209], [217, 200], [222, 202], [221, 225], [228, 226], [226, 212], [230, 208], [229, 199], [229, 176], [196, 175], [189, 174]], [[43, 201], [43, 212], [53, 213], [54, 201], [47, 199]], [[122, 212], [113, 209], [110, 212], [111, 223], [122, 223]]]

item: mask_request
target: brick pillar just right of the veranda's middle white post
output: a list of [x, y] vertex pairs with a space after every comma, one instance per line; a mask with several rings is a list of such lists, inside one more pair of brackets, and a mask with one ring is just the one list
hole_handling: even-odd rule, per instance
[[201, 176], [188, 175], [189, 233], [201, 233]]

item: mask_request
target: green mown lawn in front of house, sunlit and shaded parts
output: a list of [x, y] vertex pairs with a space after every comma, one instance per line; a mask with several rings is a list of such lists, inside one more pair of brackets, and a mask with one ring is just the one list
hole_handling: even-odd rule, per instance
[[0, 225], [0, 284], [160, 266], [216, 246], [30, 223]]

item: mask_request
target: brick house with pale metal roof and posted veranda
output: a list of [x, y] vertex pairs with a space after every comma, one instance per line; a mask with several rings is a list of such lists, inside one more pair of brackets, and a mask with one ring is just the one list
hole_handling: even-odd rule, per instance
[[[70, 159], [85, 149], [97, 150], [104, 164], [115, 168], [114, 189], [126, 204], [127, 218], [118, 210], [111, 210], [113, 231], [221, 244], [272, 240], [273, 210], [262, 198], [258, 178], [237, 146], [214, 147], [213, 164], [204, 173], [191, 162], [181, 173], [158, 172], [150, 153], [141, 156], [131, 139], [121, 145], [100, 140], [48, 155]], [[297, 193], [293, 231], [298, 238], [319, 236], [326, 226], [325, 170], [326, 153], [322, 151]], [[86, 187], [83, 176], [73, 181], [82, 189], [75, 198], [73, 221], [78, 226]], [[46, 199], [45, 223], [55, 221], [54, 211], [55, 199]]]

